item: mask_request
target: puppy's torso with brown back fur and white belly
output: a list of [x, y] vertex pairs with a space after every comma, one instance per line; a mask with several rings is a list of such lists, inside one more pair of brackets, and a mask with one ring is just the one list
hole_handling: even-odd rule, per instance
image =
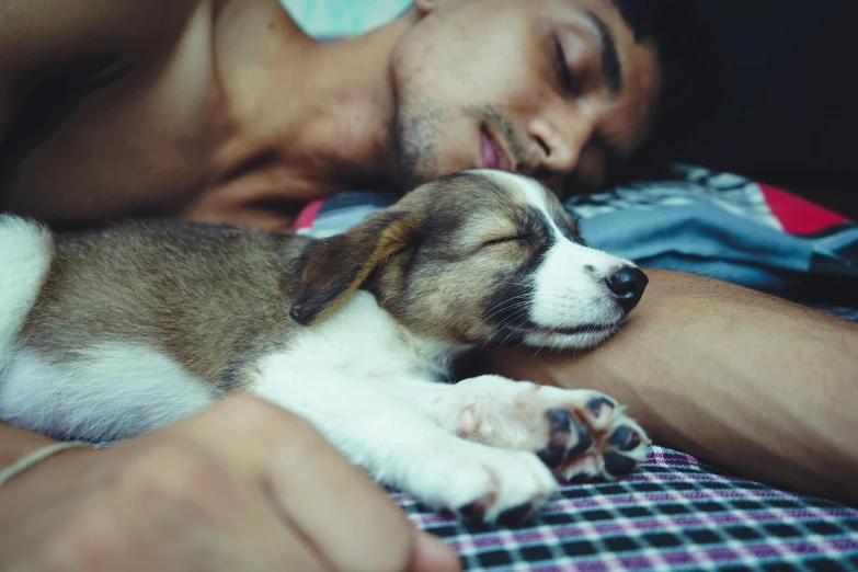
[[[45, 243], [18, 226], [52, 254], [0, 396], [16, 403], [13, 422], [41, 433], [152, 430], [238, 390], [247, 365], [299, 328], [283, 317], [295, 298], [287, 266], [307, 239], [129, 222]], [[45, 402], [26, 399], [39, 393]]]

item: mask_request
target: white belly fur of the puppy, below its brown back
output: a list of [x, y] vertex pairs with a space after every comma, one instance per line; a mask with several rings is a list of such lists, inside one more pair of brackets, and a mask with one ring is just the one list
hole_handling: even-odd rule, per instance
[[208, 387], [152, 347], [105, 342], [61, 364], [25, 350], [0, 378], [0, 419], [58, 438], [122, 439], [203, 410]]

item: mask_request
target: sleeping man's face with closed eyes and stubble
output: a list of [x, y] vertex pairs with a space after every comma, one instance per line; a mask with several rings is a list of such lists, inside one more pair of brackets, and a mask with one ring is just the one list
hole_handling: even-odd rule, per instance
[[414, 3], [391, 61], [405, 188], [489, 168], [590, 191], [649, 136], [656, 54], [609, 0]]

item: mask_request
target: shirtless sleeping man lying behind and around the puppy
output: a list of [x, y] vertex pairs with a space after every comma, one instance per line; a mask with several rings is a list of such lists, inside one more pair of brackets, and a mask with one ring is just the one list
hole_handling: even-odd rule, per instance
[[[371, 33], [319, 43], [276, 0], [7, 1], [0, 209], [59, 230], [121, 217], [288, 230], [309, 201], [471, 168], [595, 190], [684, 121], [667, 4], [414, 0]], [[605, 346], [490, 365], [608, 392], [663, 443], [855, 502], [858, 329], [649, 275]], [[0, 467], [50, 444], [0, 424]], [[457, 565], [306, 423], [248, 398], [53, 455], [0, 488], [0, 505], [3, 569]]]

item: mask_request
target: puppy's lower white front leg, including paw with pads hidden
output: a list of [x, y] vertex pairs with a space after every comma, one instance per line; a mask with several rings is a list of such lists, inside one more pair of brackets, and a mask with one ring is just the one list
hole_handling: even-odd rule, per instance
[[557, 492], [533, 453], [464, 441], [371, 384], [330, 371], [298, 376], [286, 362], [267, 359], [251, 391], [301, 415], [376, 480], [430, 506], [512, 522]]

